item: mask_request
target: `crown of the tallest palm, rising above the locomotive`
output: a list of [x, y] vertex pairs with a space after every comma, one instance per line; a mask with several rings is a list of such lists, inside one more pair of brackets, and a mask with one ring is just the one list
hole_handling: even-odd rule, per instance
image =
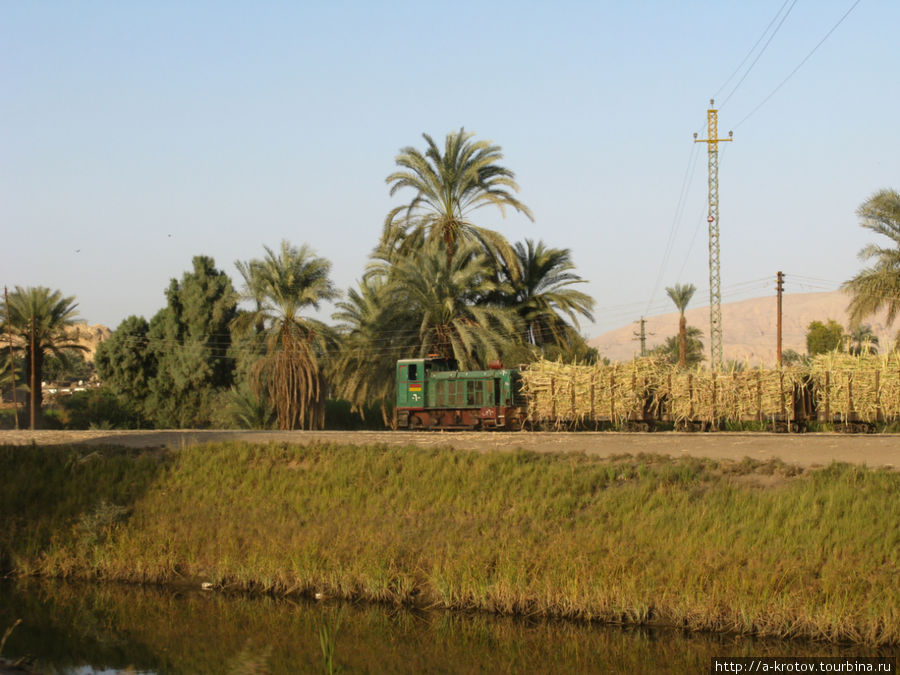
[[400, 151], [395, 161], [399, 170], [389, 175], [393, 197], [404, 188], [415, 193], [409, 203], [397, 206], [384, 222], [382, 245], [401, 254], [422, 246], [425, 241], [444, 244], [448, 262], [462, 241], [475, 240], [485, 250], [512, 260], [509, 243], [497, 232], [475, 225], [472, 212], [496, 206], [502, 215], [512, 207], [533, 220], [531, 211], [513, 193], [519, 191], [515, 174], [497, 164], [503, 158], [500, 146], [490, 141], [473, 141], [464, 129], [447, 134], [444, 151], [428, 134], [425, 153], [413, 147]]

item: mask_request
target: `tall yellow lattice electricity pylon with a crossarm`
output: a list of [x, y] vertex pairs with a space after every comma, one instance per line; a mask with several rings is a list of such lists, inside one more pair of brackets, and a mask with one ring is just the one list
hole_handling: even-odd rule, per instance
[[719, 143], [734, 140], [733, 133], [728, 138], [719, 138], [719, 111], [709, 99], [706, 111], [707, 137], [697, 138], [694, 143], [706, 143], [709, 151], [709, 353], [710, 367], [722, 368], [722, 288], [719, 277]]

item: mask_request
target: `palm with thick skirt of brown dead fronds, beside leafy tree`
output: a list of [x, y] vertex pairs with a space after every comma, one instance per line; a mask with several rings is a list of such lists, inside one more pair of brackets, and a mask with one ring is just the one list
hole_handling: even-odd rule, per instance
[[265, 392], [272, 400], [280, 429], [321, 428], [326, 393], [322, 358], [335, 336], [324, 323], [301, 313], [338, 297], [328, 278], [331, 263], [305, 244], [298, 249], [282, 241], [278, 253], [264, 249], [262, 260], [239, 267], [249, 275], [244, 298], [259, 305], [239, 316], [235, 328], [262, 326], [266, 335], [266, 352], [251, 367], [250, 383], [258, 397]]

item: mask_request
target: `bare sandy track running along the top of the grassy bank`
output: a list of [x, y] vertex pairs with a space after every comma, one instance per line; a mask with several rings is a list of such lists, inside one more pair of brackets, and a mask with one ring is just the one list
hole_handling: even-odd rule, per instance
[[900, 435], [614, 432], [391, 432], [391, 431], [0, 431], [0, 445], [119, 445], [181, 447], [213, 441], [417, 445], [460, 450], [641, 452], [715, 459], [780, 459], [810, 467], [833, 461], [900, 468]]

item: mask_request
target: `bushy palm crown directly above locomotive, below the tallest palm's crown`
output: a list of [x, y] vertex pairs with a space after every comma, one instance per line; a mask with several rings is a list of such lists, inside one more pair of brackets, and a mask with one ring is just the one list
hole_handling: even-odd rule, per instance
[[386, 280], [393, 330], [408, 341], [408, 353], [456, 359], [463, 370], [482, 367], [515, 339], [518, 317], [489, 302], [500, 285], [477, 244], [461, 243], [452, 259], [439, 244], [370, 266], [370, 274]]

